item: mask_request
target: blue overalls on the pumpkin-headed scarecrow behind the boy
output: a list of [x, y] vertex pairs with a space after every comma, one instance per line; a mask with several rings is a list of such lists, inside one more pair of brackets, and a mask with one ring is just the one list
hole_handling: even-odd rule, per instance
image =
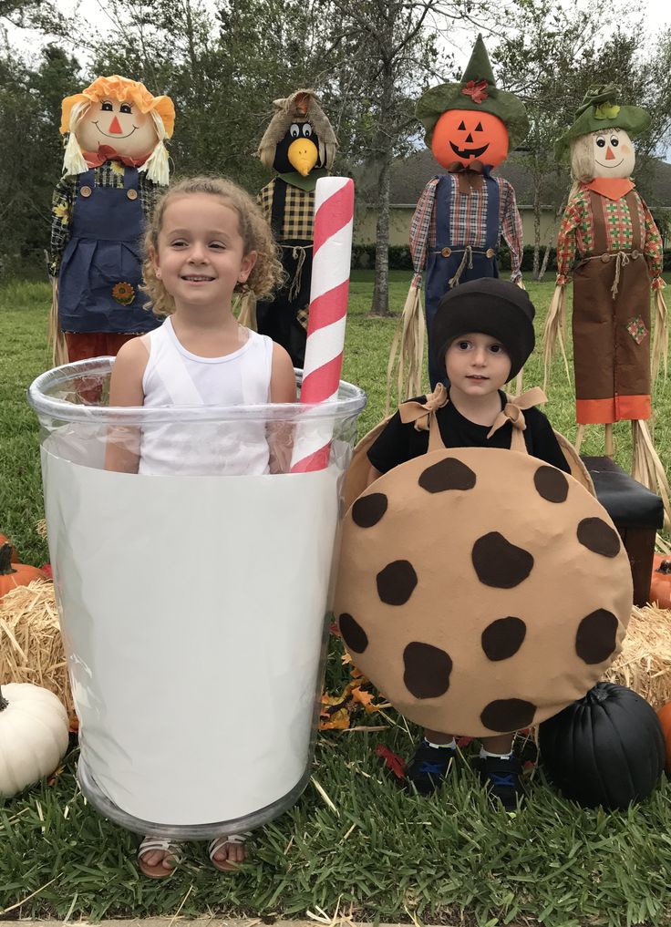
[[[499, 244], [499, 184], [496, 180], [483, 173], [483, 184], [487, 184], [487, 216], [485, 245], [469, 248], [462, 273], [459, 279], [451, 286], [458, 286], [468, 280], [479, 280], [481, 277], [498, 277], [497, 247]], [[457, 207], [458, 208], [458, 207]], [[426, 312], [426, 330], [429, 338], [429, 379], [431, 388], [435, 389], [438, 383], [448, 381], [436, 365], [431, 343], [431, 327], [438, 308], [438, 303], [450, 288], [449, 281], [459, 271], [464, 258], [468, 242], [454, 242], [450, 227], [450, 213], [452, 210], [452, 178], [443, 174], [437, 184], [436, 198], [434, 200], [434, 214], [436, 221], [436, 247], [429, 250], [426, 255], [424, 308]], [[465, 333], [464, 333], [465, 334]]]

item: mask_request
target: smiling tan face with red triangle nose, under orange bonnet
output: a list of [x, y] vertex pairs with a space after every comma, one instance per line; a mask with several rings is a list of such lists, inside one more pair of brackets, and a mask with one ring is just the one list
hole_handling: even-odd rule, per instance
[[84, 151], [108, 145], [124, 158], [141, 158], [158, 144], [150, 113], [143, 113], [131, 100], [120, 103], [111, 97], [92, 103], [75, 130]]

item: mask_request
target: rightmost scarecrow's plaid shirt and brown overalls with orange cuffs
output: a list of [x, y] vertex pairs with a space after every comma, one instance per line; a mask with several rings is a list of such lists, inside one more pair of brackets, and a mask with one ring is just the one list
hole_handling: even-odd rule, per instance
[[[592, 185], [593, 184], [593, 185]], [[557, 240], [557, 284], [573, 271], [576, 420], [651, 416], [651, 286], [663, 286], [662, 237], [633, 184], [613, 199], [580, 184]], [[652, 284], [651, 284], [652, 278]]]

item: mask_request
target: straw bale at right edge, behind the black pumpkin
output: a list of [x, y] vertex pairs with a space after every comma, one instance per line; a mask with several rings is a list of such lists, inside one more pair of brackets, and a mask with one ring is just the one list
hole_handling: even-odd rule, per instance
[[603, 678], [628, 686], [655, 709], [671, 702], [671, 611], [634, 606], [622, 652]]

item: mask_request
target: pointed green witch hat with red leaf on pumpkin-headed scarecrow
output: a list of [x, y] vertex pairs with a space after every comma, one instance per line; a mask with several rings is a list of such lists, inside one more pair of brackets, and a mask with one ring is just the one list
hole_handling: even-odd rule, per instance
[[424, 140], [427, 146], [431, 146], [439, 117], [448, 109], [473, 109], [498, 116], [508, 130], [511, 150], [523, 141], [529, 131], [522, 100], [496, 86], [482, 35], [475, 40], [473, 54], [463, 71], [461, 82], [431, 87], [417, 102], [415, 115], [426, 130]]

